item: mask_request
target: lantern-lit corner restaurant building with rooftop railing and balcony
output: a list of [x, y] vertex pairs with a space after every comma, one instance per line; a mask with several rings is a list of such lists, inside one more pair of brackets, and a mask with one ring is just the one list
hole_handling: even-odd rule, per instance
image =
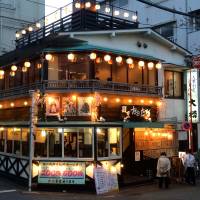
[[154, 175], [162, 151], [178, 155], [191, 54], [137, 21], [75, 7], [0, 57], [0, 171], [85, 184], [94, 165], [121, 174], [123, 162]]

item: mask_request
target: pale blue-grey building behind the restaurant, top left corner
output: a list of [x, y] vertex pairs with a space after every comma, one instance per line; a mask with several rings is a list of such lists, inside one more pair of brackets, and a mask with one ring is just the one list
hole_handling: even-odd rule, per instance
[[[35, 2], [35, 3], [34, 3]], [[0, 55], [15, 48], [15, 32], [44, 17], [45, 0], [0, 1]], [[40, 2], [40, 3], [39, 3]]]

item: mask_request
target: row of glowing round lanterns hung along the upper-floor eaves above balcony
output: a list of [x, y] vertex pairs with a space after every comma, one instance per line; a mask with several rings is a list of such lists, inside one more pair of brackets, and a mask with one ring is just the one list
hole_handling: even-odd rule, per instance
[[[70, 62], [74, 62], [75, 59], [76, 59], [76, 55], [73, 54], [73, 53], [69, 53], [69, 54], [67, 54], [67, 58], [68, 58], [68, 60]], [[96, 61], [97, 64], [102, 62], [102, 59], [100, 57], [98, 57], [95, 52], [90, 53], [89, 54], [89, 58], [91, 60]], [[45, 59], [47, 61], [51, 61], [51, 60], [53, 60], [53, 55], [48, 53], [48, 54], [45, 55]], [[109, 55], [109, 54], [104, 55], [103, 56], [103, 60], [105, 62], [107, 62], [108, 64], [113, 64], [112, 56]], [[117, 64], [122, 64], [125, 61], [126, 64], [128, 64], [130, 69], [134, 68], [134, 60], [131, 57], [123, 58], [122, 56], [116, 56], [115, 57], [115, 61], [116, 61]], [[139, 60], [138, 61], [138, 66], [140, 68], [144, 68], [145, 67], [145, 61]], [[24, 66], [21, 68], [22, 72], [24, 72], [24, 73], [27, 72], [30, 67], [31, 67], [31, 62], [30, 61], [25, 61], [24, 62]], [[155, 63], [150, 61], [150, 62], [147, 63], [147, 67], [148, 67], [149, 70], [152, 70], [154, 67], [156, 69], [161, 69], [162, 68], [162, 64], [161, 64], [161, 62], [157, 62], [155, 64]], [[42, 68], [42, 64], [38, 63], [37, 64], [37, 68], [41, 69]], [[14, 77], [16, 75], [16, 71], [18, 70], [18, 67], [15, 64], [13, 64], [10, 69], [11, 69], [10, 76]], [[0, 70], [0, 79], [4, 79], [4, 76], [5, 76], [5, 71], [3, 69], [1, 69]]]

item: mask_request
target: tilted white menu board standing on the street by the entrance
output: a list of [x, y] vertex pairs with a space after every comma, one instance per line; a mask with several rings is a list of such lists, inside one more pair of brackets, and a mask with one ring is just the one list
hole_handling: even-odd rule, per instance
[[95, 168], [94, 178], [97, 194], [119, 190], [116, 172], [110, 172], [104, 168]]

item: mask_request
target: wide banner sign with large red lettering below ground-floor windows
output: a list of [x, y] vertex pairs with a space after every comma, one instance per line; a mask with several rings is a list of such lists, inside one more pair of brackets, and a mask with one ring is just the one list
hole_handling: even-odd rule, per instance
[[38, 183], [41, 184], [85, 184], [85, 163], [40, 162]]

